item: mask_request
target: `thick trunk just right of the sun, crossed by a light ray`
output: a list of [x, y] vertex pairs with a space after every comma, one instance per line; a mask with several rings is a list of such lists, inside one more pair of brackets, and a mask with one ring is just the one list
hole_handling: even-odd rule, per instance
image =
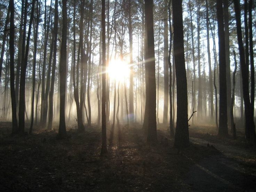
[[[157, 142], [157, 117], [156, 117], [156, 85], [155, 85], [155, 50], [153, 28], [153, 0], [145, 1], [145, 25], [146, 25], [146, 70], [148, 73], [148, 85], [146, 95], [148, 97], [147, 110], [147, 142]], [[145, 114], [146, 115], [146, 114]]]

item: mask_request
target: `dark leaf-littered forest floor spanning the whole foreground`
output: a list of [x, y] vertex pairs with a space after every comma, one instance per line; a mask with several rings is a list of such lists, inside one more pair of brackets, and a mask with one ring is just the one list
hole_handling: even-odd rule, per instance
[[256, 150], [241, 133], [234, 140], [190, 127], [190, 147], [177, 150], [167, 127], [150, 146], [136, 125], [114, 134], [101, 157], [98, 127], [69, 126], [64, 140], [57, 126], [24, 137], [10, 137], [10, 127], [0, 123], [0, 191], [256, 191]]

